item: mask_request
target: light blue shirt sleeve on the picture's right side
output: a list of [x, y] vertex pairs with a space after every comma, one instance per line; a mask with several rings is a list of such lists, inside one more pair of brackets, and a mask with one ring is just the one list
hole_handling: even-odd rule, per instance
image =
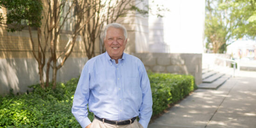
[[148, 74], [142, 62], [141, 66], [139, 67], [139, 70], [142, 90], [142, 103], [141, 108], [139, 109], [139, 123], [143, 126], [143, 128], [148, 128], [148, 123], [152, 115], [152, 93], [150, 88], [150, 82], [148, 79]]

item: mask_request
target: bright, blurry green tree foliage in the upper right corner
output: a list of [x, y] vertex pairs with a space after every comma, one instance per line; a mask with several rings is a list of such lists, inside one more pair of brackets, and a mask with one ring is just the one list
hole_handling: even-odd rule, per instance
[[236, 39], [255, 39], [255, 28], [256, 0], [206, 0], [204, 33], [213, 53], [224, 53]]

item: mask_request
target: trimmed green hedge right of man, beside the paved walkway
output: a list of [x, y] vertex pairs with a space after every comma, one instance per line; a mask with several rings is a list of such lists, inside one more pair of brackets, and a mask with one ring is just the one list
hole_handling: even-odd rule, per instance
[[180, 101], [196, 88], [192, 75], [148, 73], [153, 98], [153, 115]]

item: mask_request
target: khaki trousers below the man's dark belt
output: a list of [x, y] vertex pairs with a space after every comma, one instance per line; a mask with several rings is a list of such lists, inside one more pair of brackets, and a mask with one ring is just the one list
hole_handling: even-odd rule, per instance
[[103, 123], [102, 121], [94, 118], [94, 121], [92, 122], [90, 128], [143, 128], [143, 126], [137, 120], [135, 120], [132, 124], [128, 125], [115, 125]]

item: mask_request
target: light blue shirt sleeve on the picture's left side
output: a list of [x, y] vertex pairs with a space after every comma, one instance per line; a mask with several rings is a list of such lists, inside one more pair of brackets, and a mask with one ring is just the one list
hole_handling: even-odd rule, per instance
[[85, 65], [74, 93], [74, 100], [72, 106], [72, 114], [80, 123], [82, 128], [85, 128], [91, 123], [91, 121], [88, 118], [87, 108], [90, 96], [89, 81], [89, 70], [88, 66]]

